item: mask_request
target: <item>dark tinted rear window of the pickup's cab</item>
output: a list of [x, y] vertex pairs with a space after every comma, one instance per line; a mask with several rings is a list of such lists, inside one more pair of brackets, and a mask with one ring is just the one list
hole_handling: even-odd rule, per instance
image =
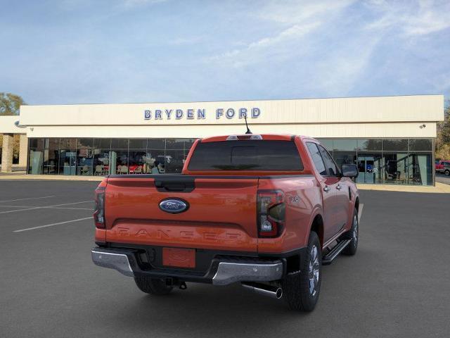
[[302, 171], [303, 164], [293, 141], [200, 142], [188, 170]]

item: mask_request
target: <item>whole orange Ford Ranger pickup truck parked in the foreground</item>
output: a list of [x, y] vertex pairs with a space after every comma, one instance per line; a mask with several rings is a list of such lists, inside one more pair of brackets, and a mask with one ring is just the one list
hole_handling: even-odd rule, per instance
[[240, 282], [312, 311], [321, 266], [356, 252], [357, 175], [310, 137], [198, 139], [181, 174], [101, 182], [92, 260], [148, 294]]

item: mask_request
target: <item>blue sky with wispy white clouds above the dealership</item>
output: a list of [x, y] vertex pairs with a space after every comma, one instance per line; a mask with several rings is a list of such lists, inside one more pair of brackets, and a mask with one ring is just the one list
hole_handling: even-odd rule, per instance
[[450, 1], [0, 0], [28, 104], [444, 94]]

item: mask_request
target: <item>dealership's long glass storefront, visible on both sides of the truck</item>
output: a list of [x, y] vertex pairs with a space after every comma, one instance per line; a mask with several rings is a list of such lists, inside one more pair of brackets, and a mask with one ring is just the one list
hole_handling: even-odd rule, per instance
[[[359, 183], [432, 184], [432, 139], [319, 139]], [[195, 139], [30, 138], [30, 174], [181, 173]]]

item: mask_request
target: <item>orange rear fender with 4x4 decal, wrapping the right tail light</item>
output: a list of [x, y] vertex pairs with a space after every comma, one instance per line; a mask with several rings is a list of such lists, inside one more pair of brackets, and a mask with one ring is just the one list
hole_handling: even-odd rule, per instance
[[285, 225], [277, 238], [259, 238], [259, 253], [286, 253], [307, 245], [311, 221], [321, 215], [321, 192], [313, 175], [260, 178], [259, 189], [279, 189], [285, 197]]

